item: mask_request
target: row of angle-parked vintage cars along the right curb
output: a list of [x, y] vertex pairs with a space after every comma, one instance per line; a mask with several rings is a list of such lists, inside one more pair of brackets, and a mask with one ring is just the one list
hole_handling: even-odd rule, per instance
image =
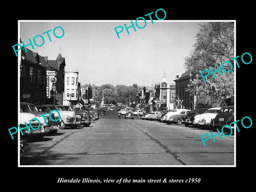
[[[144, 113], [141, 119], [193, 127], [222, 127], [234, 122], [234, 106], [202, 109], [174, 109]], [[234, 124], [230, 125], [234, 126]]]

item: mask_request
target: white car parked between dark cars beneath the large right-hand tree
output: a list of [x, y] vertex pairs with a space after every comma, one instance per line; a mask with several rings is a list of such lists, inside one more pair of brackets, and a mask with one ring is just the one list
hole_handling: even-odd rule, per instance
[[220, 107], [210, 108], [205, 113], [194, 117], [193, 127], [209, 127], [211, 121], [219, 113]]

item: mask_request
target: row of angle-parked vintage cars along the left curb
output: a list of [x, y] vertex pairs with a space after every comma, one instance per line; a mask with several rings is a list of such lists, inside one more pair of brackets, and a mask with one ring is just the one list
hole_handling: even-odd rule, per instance
[[[59, 113], [52, 110], [58, 110]], [[72, 109], [70, 106], [63, 105], [34, 105], [33, 103], [20, 102], [19, 125], [21, 129], [26, 126], [29, 129], [29, 131], [28, 129], [22, 130], [23, 135], [20, 137], [22, 141], [21, 147], [25, 146], [23, 142], [26, 142], [27, 139], [42, 138], [45, 135], [55, 134], [59, 129], [66, 129], [66, 127], [74, 129], [81, 125], [88, 127], [94, 120], [99, 119], [103, 113], [101, 109]], [[50, 114], [51, 118], [49, 116]], [[31, 119], [33, 120], [31, 121]], [[41, 124], [38, 129], [39, 122], [36, 119]], [[52, 119], [59, 120], [52, 121]]]

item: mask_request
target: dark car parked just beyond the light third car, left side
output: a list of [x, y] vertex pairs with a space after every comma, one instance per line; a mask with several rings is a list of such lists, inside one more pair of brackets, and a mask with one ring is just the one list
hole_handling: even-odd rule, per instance
[[[79, 121], [80, 118], [81, 124], [85, 127], [90, 126], [93, 122], [93, 119], [90, 117], [89, 113], [85, 109], [72, 109], [70, 106], [58, 106], [65, 111], [74, 111], [76, 114], [76, 121]], [[79, 117], [77, 117], [79, 116]]]

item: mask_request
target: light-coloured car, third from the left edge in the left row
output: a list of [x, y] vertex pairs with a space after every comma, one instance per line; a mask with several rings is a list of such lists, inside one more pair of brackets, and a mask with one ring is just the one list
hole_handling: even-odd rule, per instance
[[[38, 105], [36, 106], [38, 111], [49, 113], [51, 110], [58, 110], [61, 118], [60, 129], [66, 129], [66, 127], [76, 128], [80, 121], [76, 121], [76, 114], [74, 111], [63, 111], [56, 105]], [[58, 113], [54, 115], [58, 116]]]

